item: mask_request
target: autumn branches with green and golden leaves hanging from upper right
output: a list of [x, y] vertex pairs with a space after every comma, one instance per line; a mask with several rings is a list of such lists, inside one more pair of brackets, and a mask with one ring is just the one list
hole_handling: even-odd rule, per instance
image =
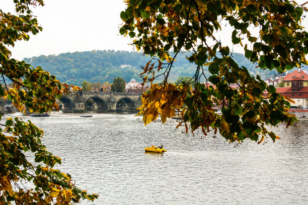
[[[230, 40], [243, 47], [246, 58], [262, 69], [283, 72], [307, 64], [308, 33], [300, 26], [306, 8], [287, 0], [127, 0], [126, 4], [120, 14], [124, 22], [120, 34], [133, 38], [137, 50], [159, 57], [143, 67], [143, 83], [164, 76], [162, 83], [152, 84], [142, 95], [139, 114], [145, 124], [159, 114], [164, 123], [182, 109], [186, 131], [188, 125], [192, 131], [201, 128], [205, 135], [219, 129], [230, 142], [250, 138], [259, 143], [268, 135], [273, 141], [278, 138], [266, 125], [294, 124], [295, 116], [287, 113], [292, 100], [276, 93], [260, 76], [250, 76], [215, 33], [229, 24]], [[190, 84], [176, 86], [167, 80], [181, 50], [193, 52], [188, 60], [196, 70]], [[211, 76], [205, 76], [204, 66]], [[200, 83], [201, 77], [213, 85]], [[240, 88], [234, 89], [232, 83]], [[213, 111], [216, 105], [222, 107], [222, 116]]]

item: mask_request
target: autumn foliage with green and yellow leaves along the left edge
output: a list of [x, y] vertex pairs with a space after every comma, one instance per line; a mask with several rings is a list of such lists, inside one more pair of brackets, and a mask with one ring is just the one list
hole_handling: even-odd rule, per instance
[[[9, 50], [16, 41], [28, 41], [30, 33], [35, 35], [42, 30], [30, 7], [43, 6], [43, 1], [14, 3], [16, 15], [0, 10], [0, 97], [12, 100], [21, 112], [25, 112], [25, 106], [30, 112], [50, 112], [58, 108], [55, 99], [69, 86], [41, 67], [11, 58]], [[19, 118], [8, 118], [0, 124], [0, 204], [70, 204], [80, 198], [96, 198], [96, 194], [75, 187], [69, 174], [53, 168], [61, 164], [61, 159], [42, 145], [43, 133], [30, 121]]]

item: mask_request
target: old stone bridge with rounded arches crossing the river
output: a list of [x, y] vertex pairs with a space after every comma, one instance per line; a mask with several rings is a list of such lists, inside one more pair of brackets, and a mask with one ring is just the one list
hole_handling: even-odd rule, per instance
[[141, 94], [131, 93], [77, 91], [63, 95], [59, 100], [64, 113], [136, 111], [141, 106]]

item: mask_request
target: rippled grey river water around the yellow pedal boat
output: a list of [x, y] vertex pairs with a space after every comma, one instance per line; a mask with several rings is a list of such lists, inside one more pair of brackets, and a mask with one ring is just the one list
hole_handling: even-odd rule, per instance
[[[257, 145], [220, 135], [185, 134], [169, 120], [144, 126], [133, 114], [23, 117], [45, 131], [43, 143], [83, 190], [82, 204], [308, 204], [308, 121], [272, 130]], [[144, 147], [163, 144], [163, 154]]]

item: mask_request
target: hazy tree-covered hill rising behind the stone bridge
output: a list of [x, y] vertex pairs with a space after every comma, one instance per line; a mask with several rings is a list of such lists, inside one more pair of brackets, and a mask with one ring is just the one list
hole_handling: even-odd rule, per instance
[[[193, 76], [195, 64], [190, 63], [186, 57], [190, 52], [179, 53], [174, 63], [169, 80], [174, 82], [179, 76]], [[245, 66], [252, 74], [260, 74], [257, 64], [251, 63], [243, 54], [233, 53], [240, 66]], [[142, 79], [139, 76], [141, 66], [144, 66], [151, 58], [138, 52], [94, 50], [74, 53], [61, 53], [59, 55], [38, 56], [25, 58], [24, 61], [34, 67], [41, 66], [44, 70], [55, 75], [58, 80], [73, 85], [81, 85], [83, 81], [89, 82], [113, 82], [117, 76], [126, 82], [135, 78], [137, 82]], [[129, 67], [121, 67], [127, 64]], [[209, 75], [207, 69], [204, 70]], [[271, 71], [273, 72], [273, 71]], [[268, 73], [270, 74], [270, 73]]]

